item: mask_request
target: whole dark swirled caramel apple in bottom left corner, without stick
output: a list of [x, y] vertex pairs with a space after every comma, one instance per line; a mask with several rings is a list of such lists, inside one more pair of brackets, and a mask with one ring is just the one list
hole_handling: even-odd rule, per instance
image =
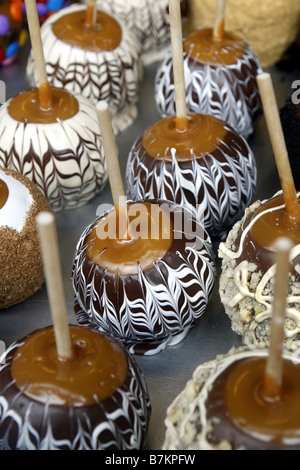
[[52, 327], [12, 344], [0, 366], [1, 450], [138, 450], [148, 429], [144, 377], [108, 335], [70, 325], [72, 358]]

